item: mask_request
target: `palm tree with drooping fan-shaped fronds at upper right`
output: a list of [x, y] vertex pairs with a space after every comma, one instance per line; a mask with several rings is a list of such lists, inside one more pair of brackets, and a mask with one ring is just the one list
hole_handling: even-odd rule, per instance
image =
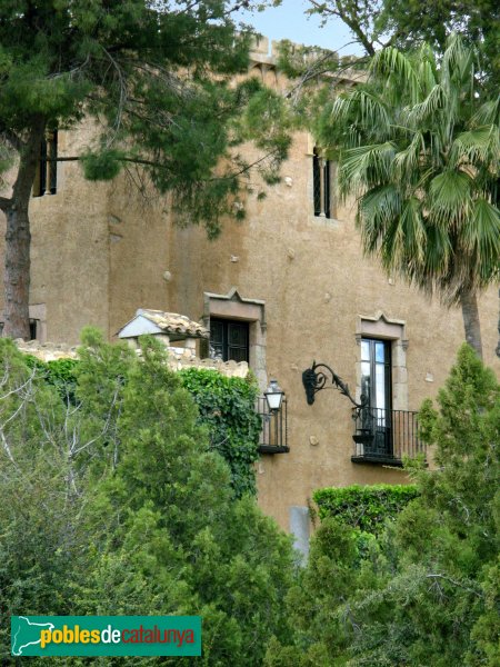
[[499, 277], [500, 102], [484, 99], [474, 52], [452, 36], [373, 57], [368, 81], [340, 94], [318, 123], [356, 196], [363, 249], [447, 305], [460, 305], [482, 356], [478, 292]]

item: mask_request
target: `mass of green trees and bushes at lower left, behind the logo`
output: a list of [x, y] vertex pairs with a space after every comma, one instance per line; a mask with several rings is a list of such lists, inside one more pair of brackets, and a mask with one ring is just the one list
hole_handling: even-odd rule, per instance
[[[3, 613], [199, 614], [197, 663], [261, 664], [269, 634], [290, 636], [289, 538], [233, 499], [161, 346], [144, 341], [138, 360], [96, 332], [84, 341], [76, 405], [0, 345]], [[0, 640], [8, 660], [6, 625]]]

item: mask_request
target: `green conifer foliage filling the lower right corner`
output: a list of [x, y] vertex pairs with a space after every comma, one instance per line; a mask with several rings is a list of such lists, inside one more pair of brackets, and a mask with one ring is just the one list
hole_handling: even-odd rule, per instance
[[449, 665], [499, 660], [500, 386], [463, 346], [422, 437], [433, 469], [374, 537], [327, 517], [288, 608], [294, 641], [268, 667]]

